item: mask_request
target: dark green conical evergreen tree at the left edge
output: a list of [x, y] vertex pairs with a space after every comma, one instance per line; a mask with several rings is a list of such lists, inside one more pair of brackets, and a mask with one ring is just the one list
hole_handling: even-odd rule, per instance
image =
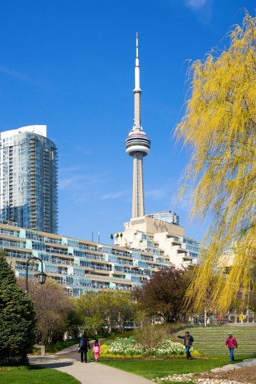
[[18, 286], [7, 255], [0, 252], [0, 356], [27, 353], [36, 336], [33, 302]]

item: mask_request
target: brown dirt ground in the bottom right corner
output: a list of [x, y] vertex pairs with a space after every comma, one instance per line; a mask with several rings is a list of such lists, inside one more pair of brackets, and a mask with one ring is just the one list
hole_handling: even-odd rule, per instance
[[235, 380], [239, 383], [256, 384], [256, 366], [228, 370], [227, 372], [196, 373], [196, 378], [211, 378], [213, 380]]

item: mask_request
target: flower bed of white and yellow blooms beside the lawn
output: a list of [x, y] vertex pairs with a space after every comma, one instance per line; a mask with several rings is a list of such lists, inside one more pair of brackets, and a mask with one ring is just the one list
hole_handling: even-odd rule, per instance
[[[199, 355], [198, 352], [191, 348], [192, 355]], [[175, 343], [171, 338], [166, 338], [164, 343], [158, 348], [147, 348], [144, 350], [143, 346], [136, 343], [134, 337], [129, 338], [115, 338], [114, 340], [106, 341], [102, 345], [101, 357], [108, 358], [142, 358], [146, 356], [155, 357], [182, 357], [185, 356], [185, 346], [181, 343]]]

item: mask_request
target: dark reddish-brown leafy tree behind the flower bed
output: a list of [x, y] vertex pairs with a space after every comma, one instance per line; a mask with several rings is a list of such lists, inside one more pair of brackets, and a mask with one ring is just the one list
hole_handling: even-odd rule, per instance
[[183, 298], [189, 284], [191, 273], [185, 268], [170, 267], [153, 274], [142, 288], [136, 287], [133, 296], [148, 316], [161, 316], [170, 323], [186, 316]]

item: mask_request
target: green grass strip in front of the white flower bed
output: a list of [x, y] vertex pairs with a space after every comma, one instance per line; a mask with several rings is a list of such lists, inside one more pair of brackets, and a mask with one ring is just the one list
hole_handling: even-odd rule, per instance
[[[165, 378], [167, 375], [174, 373], [206, 372], [212, 368], [229, 364], [228, 357], [227, 353], [227, 356], [218, 356], [218, 360], [213, 360], [211, 357], [209, 357], [208, 360], [202, 358], [194, 358], [193, 360], [112, 360], [102, 358], [100, 359], [100, 363], [151, 380], [156, 377]], [[239, 363], [245, 358], [247, 358], [247, 356], [242, 356], [242, 358], [240, 356], [235, 356], [235, 363]]]

